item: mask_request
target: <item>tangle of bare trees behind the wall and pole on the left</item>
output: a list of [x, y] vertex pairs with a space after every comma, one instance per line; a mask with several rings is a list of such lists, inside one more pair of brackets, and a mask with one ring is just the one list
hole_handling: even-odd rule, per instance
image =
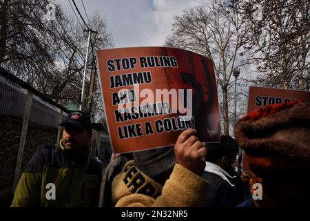
[[[55, 6], [47, 19], [47, 6]], [[86, 27], [49, 0], [0, 1], [0, 65], [59, 104], [79, 102], [87, 47]], [[112, 37], [98, 14], [90, 18], [92, 49], [109, 48]], [[87, 65], [94, 64], [89, 54]], [[90, 75], [90, 73], [87, 73]]]

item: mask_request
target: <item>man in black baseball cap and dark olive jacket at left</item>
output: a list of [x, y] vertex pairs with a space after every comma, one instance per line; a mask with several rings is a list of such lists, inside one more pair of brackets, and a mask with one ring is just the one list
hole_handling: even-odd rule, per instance
[[59, 144], [39, 149], [21, 175], [11, 206], [98, 206], [101, 165], [88, 157], [92, 122], [74, 111]]

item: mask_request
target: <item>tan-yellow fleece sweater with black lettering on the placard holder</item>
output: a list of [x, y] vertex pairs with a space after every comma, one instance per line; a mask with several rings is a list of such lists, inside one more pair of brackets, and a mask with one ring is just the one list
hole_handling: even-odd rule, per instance
[[164, 186], [158, 184], [134, 166], [125, 164], [123, 171], [112, 182], [112, 200], [116, 206], [189, 207], [203, 206], [209, 183], [180, 164]]

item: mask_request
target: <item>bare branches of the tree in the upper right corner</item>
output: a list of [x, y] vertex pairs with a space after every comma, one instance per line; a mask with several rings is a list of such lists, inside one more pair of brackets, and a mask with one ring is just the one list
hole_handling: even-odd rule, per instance
[[309, 90], [310, 1], [254, 0], [240, 4], [248, 61], [265, 86]]

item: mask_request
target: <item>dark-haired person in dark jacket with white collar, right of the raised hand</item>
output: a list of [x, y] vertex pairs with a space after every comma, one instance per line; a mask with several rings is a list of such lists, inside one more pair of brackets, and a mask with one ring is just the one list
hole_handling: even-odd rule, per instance
[[209, 181], [209, 193], [205, 206], [231, 207], [238, 204], [234, 183], [236, 175], [229, 175], [231, 164], [236, 161], [238, 144], [234, 138], [223, 135], [220, 144], [208, 144], [206, 166], [202, 177]]

